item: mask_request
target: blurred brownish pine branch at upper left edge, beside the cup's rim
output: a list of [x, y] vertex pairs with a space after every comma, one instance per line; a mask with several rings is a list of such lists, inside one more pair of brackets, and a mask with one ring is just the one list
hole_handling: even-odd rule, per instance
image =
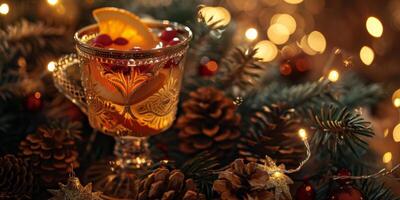
[[28, 57], [33, 53], [43, 53], [45, 49], [65, 51], [65, 40], [61, 39], [65, 32], [63, 27], [21, 20], [0, 30], [0, 53], [9, 61], [15, 56]]

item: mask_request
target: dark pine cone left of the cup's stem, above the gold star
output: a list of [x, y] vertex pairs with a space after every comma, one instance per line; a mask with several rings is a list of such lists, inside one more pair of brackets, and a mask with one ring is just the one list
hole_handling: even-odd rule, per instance
[[22, 157], [31, 162], [44, 186], [57, 186], [79, 167], [76, 137], [67, 130], [39, 128], [21, 141]]

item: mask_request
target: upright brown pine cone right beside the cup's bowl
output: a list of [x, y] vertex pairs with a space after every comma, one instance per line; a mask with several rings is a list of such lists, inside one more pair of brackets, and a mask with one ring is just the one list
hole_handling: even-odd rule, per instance
[[200, 151], [229, 152], [240, 136], [240, 115], [232, 100], [212, 87], [191, 92], [177, 120], [179, 149], [186, 154]]

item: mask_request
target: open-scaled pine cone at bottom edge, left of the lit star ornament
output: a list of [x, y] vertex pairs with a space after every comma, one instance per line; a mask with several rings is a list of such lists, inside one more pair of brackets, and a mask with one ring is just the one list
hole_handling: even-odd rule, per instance
[[245, 164], [243, 159], [236, 159], [220, 172], [213, 189], [222, 200], [273, 199], [272, 192], [266, 189], [268, 179], [268, 173], [257, 168], [256, 163]]

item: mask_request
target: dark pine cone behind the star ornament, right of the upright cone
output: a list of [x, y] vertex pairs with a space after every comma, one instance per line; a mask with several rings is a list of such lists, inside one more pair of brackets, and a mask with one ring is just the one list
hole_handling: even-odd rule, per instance
[[239, 144], [242, 158], [259, 162], [270, 156], [288, 168], [296, 167], [305, 156], [305, 148], [297, 132], [300, 120], [294, 116], [293, 109], [285, 105], [264, 106], [250, 118], [251, 128]]

